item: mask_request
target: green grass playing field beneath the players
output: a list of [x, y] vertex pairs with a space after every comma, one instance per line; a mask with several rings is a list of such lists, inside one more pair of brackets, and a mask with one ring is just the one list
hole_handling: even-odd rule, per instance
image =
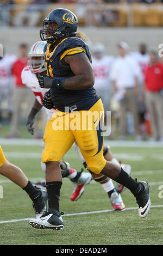
[[[31, 180], [44, 177], [40, 167], [41, 147], [39, 145], [3, 145], [8, 160], [24, 171]], [[132, 166], [132, 176], [151, 184], [152, 208], [145, 219], [140, 219], [137, 210], [111, 211], [100, 214], [86, 214], [63, 217], [65, 228], [60, 231], [37, 230], [28, 221], [1, 223], [34, 217], [32, 202], [20, 187], [0, 177], [3, 199], [0, 199], [0, 245], [162, 245], [163, 243], [163, 198], [159, 198], [159, 186], [163, 185], [163, 148], [112, 147], [118, 160]], [[73, 149], [66, 155], [66, 161], [80, 170], [78, 157]], [[63, 179], [60, 211], [65, 214], [112, 209], [108, 195], [101, 185], [91, 181], [83, 196], [71, 202], [72, 183]], [[162, 193], [163, 194], [163, 193]], [[135, 208], [132, 194], [122, 194], [126, 208]]]

